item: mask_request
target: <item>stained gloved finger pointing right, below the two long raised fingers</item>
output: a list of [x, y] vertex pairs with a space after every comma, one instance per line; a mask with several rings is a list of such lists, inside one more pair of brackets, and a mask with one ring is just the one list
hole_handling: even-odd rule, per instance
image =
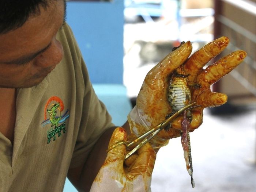
[[227, 102], [227, 95], [223, 93], [215, 93], [210, 90], [202, 92], [196, 99], [196, 104], [201, 107], [218, 107]]

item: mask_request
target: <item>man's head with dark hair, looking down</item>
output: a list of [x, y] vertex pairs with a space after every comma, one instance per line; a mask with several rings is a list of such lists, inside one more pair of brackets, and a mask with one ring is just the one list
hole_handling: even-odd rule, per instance
[[55, 68], [64, 18], [64, 0], [0, 1], [0, 87], [32, 87]]

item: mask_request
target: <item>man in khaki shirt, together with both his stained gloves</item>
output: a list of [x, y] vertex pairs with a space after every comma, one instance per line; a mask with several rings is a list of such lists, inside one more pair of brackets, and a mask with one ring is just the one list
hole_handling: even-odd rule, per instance
[[[187, 60], [191, 43], [173, 51], [148, 73], [129, 123], [113, 132], [111, 117], [93, 91], [65, 23], [64, 0], [1, 0], [0, 9], [0, 191], [62, 191], [66, 176], [79, 191], [90, 191], [91, 186], [91, 191], [149, 191], [155, 161], [149, 144], [126, 165], [124, 145], [107, 156], [106, 149], [108, 143], [126, 141], [130, 128], [138, 137], [172, 111], [165, 98], [166, 79]], [[206, 56], [208, 60], [226, 47], [228, 39], [216, 42], [218, 51]], [[240, 62], [245, 57], [241, 51], [235, 55]], [[207, 78], [212, 84], [240, 62], [231, 62], [235, 64], [218, 77], [201, 75], [195, 80], [206, 64], [203, 61], [189, 81]], [[202, 89], [192, 95], [202, 107], [192, 111], [191, 131], [202, 123], [203, 108], [226, 102], [225, 95], [210, 92], [210, 84], [201, 84]], [[210, 99], [203, 105], [200, 101], [205, 97]], [[151, 145], [161, 147], [170, 138], [180, 137], [179, 121], [160, 132]]]

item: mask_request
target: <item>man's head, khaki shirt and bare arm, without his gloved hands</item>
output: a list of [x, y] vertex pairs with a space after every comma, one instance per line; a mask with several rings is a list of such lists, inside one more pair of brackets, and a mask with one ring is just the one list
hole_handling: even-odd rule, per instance
[[114, 127], [65, 24], [65, 2], [0, 7], [0, 191], [62, 191], [68, 170], [89, 191]]

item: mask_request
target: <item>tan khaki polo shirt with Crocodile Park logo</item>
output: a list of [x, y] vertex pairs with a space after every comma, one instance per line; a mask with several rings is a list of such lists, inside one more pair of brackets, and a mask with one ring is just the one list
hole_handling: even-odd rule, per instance
[[113, 126], [98, 100], [67, 24], [58, 33], [64, 58], [35, 87], [18, 89], [14, 145], [0, 133], [0, 191], [63, 191], [100, 135]]

